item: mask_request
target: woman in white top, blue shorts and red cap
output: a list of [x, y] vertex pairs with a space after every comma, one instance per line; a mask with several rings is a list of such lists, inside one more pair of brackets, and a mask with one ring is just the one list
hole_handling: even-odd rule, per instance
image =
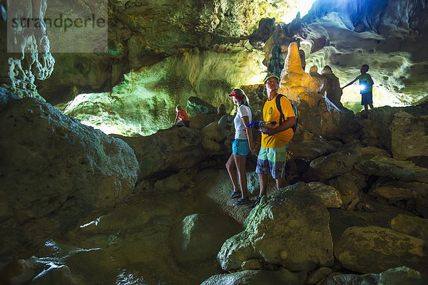
[[[240, 197], [240, 199], [233, 203], [234, 205], [238, 205], [250, 202], [247, 195], [248, 188], [247, 175], [245, 175], [245, 160], [248, 153], [253, 152], [254, 148], [251, 128], [246, 128], [251, 123], [252, 114], [250, 107], [248, 107], [247, 96], [242, 89], [234, 89], [229, 97], [233, 98], [233, 103], [238, 107], [235, 120], [233, 120], [235, 123], [235, 140], [232, 142], [233, 153], [230, 155], [228, 162], [226, 162], [226, 169], [229, 172], [230, 180], [232, 180], [233, 184], [233, 193], [229, 197]], [[238, 170], [241, 190], [238, 188], [236, 170]]]

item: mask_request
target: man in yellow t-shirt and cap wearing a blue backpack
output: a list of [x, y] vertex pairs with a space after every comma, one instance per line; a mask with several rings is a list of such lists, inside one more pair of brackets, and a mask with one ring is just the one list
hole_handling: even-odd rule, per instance
[[281, 110], [284, 120], [280, 122], [280, 111], [277, 109], [276, 97], [279, 86], [279, 78], [268, 74], [265, 78], [267, 100], [263, 106], [263, 120], [265, 122], [276, 122], [272, 128], [262, 133], [256, 144], [255, 150], [259, 150], [257, 166], [255, 172], [259, 175], [260, 195], [250, 207], [255, 207], [260, 199], [266, 195], [267, 175], [270, 174], [275, 179], [277, 190], [285, 187], [285, 163], [287, 162], [287, 146], [292, 139], [294, 131], [292, 126], [296, 124], [294, 110], [290, 101], [282, 96], [280, 98]]

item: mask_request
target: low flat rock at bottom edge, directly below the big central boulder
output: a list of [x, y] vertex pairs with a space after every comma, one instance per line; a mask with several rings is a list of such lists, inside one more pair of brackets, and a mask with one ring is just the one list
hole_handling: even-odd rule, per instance
[[245, 270], [230, 274], [218, 274], [203, 281], [201, 285], [270, 285], [270, 284], [305, 284], [304, 272], [291, 272], [287, 269], [278, 271]]

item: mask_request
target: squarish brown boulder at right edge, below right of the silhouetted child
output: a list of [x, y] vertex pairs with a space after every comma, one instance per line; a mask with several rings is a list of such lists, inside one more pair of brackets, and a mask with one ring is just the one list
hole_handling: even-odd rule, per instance
[[427, 159], [428, 136], [421, 135], [428, 130], [428, 114], [414, 116], [406, 112], [394, 115], [392, 123], [392, 155], [397, 160], [409, 157]]

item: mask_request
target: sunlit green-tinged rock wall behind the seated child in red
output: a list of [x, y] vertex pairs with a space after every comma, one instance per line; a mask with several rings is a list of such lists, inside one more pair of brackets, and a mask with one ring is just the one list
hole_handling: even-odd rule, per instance
[[[204, 113], [216, 113], [215, 108], [222, 104], [230, 113], [234, 106], [228, 95], [233, 88], [263, 78], [260, 52], [239, 45], [230, 49], [228, 53], [189, 50], [131, 71], [111, 92], [76, 95], [63, 112], [105, 133], [127, 136], [151, 135], [169, 128], [176, 115], [175, 106], [187, 110], [189, 98], [213, 106]], [[247, 72], [240, 73], [243, 69]], [[199, 113], [193, 109], [192, 100], [189, 115]]]

